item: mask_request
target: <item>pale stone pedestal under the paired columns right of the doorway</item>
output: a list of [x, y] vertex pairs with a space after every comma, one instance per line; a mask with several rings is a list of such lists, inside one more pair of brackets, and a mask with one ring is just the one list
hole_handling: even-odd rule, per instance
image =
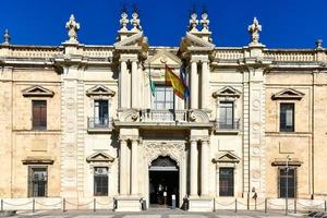
[[213, 211], [214, 199], [213, 197], [189, 197], [189, 211]]

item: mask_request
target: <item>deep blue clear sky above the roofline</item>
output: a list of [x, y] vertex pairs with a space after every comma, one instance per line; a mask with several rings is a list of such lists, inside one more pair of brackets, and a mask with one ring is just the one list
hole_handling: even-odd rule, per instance
[[3, 0], [0, 33], [8, 27], [12, 44], [60, 45], [74, 13], [80, 43], [111, 45], [124, 3], [130, 11], [137, 4], [150, 46], [178, 46], [190, 10], [206, 5], [216, 46], [247, 45], [247, 25], [257, 16], [261, 41], [269, 48], [314, 48], [318, 38], [327, 47], [327, 0]]

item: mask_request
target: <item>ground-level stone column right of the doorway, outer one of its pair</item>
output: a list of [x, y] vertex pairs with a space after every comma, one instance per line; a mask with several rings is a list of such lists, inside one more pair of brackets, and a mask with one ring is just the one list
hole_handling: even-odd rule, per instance
[[206, 196], [208, 192], [208, 141], [202, 141], [201, 146], [201, 195]]

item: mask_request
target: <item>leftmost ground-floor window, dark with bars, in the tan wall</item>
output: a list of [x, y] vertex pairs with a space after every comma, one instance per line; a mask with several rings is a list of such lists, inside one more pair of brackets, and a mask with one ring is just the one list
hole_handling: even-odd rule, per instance
[[47, 196], [47, 186], [48, 186], [47, 175], [48, 175], [47, 167], [28, 168], [28, 196], [29, 197]]

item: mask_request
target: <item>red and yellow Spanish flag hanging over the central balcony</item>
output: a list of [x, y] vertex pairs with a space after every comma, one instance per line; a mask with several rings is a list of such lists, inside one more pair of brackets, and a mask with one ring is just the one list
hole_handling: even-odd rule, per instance
[[185, 95], [185, 90], [187, 86], [183, 83], [183, 81], [173, 73], [173, 71], [166, 64], [166, 85], [171, 85], [174, 94], [182, 99], [187, 98]]

